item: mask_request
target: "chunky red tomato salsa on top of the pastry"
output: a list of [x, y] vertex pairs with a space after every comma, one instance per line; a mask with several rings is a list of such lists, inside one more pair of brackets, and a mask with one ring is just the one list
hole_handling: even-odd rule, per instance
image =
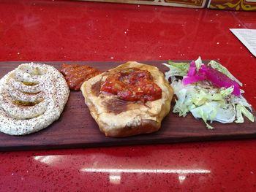
[[110, 74], [103, 82], [100, 91], [118, 96], [126, 101], [154, 101], [161, 99], [162, 89], [154, 83], [147, 70], [127, 68]]

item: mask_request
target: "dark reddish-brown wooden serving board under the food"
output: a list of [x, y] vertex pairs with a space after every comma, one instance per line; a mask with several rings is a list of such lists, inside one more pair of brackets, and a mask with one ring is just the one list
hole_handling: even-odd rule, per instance
[[[25, 63], [25, 62], [22, 62]], [[86, 64], [101, 71], [111, 69], [124, 62], [38, 62], [50, 64], [60, 69], [62, 63]], [[144, 64], [158, 66], [162, 72], [167, 68], [162, 61], [144, 61]], [[0, 62], [0, 77], [15, 69], [21, 62]], [[173, 105], [172, 105], [173, 106]], [[171, 109], [172, 110], [172, 109]], [[255, 111], [254, 111], [255, 115]], [[48, 128], [26, 136], [10, 136], [0, 133], [0, 150], [37, 150], [67, 147], [102, 147], [117, 145], [140, 145], [173, 142], [209, 141], [220, 139], [247, 139], [256, 137], [256, 124], [245, 119], [245, 123], [213, 123], [214, 130], [206, 128], [203, 120], [192, 115], [185, 118], [170, 112], [162, 121], [162, 127], [153, 134], [126, 138], [105, 137], [97, 123], [91, 118], [88, 107], [80, 91], [71, 91], [69, 101], [59, 120]]]

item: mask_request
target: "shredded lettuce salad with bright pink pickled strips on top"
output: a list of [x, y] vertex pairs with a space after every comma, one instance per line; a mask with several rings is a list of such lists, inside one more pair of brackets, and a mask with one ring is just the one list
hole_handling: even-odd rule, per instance
[[203, 64], [199, 57], [196, 61], [164, 64], [170, 70], [165, 78], [171, 80], [176, 95], [173, 112], [185, 117], [191, 112], [201, 118], [206, 127], [215, 120], [220, 123], [244, 123], [244, 116], [254, 122], [252, 106], [244, 99], [240, 89], [242, 83], [225, 66], [210, 61]]

